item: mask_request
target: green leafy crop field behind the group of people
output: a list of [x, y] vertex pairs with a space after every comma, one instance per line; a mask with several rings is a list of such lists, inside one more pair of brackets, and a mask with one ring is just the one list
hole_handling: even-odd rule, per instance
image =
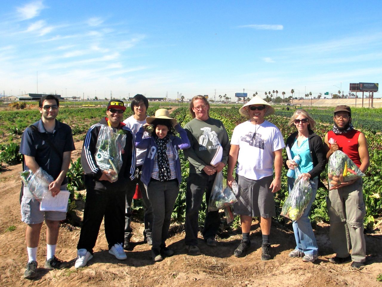
[[[147, 114], [149, 116], [155, 113], [155, 110], [162, 107], [161, 103], [151, 104]], [[179, 105], [176, 104], [175, 108]], [[186, 122], [191, 120], [188, 113], [187, 104], [181, 104], [180, 108], [176, 108], [173, 111], [172, 116], [175, 117], [182, 126]], [[167, 107], [168, 106], [167, 103]], [[172, 104], [172, 107], [174, 105]], [[329, 109], [308, 109], [311, 116], [317, 122], [315, 132], [322, 138], [325, 133], [331, 129], [333, 124], [333, 110]], [[294, 109], [289, 111], [277, 109], [276, 113], [272, 116], [267, 117], [267, 120], [275, 124], [282, 132], [284, 139], [290, 135], [295, 128], [288, 127], [288, 120], [293, 114]], [[352, 109], [353, 125], [355, 129], [364, 132], [367, 138], [370, 152], [370, 167], [367, 170], [364, 180], [364, 199], [366, 203], [366, 213], [365, 226], [372, 227], [374, 221], [381, 217], [382, 215], [382, 201], [380, 197], [382, 196], [382, 190], [380, 182], [382, 180], [381, 166], [382, 166], [382, 109], [367, 109], [367, 108], [353, 108]], [[70, 125], [73, 130], [73, 136], [75, 140], [82, 140], [87, 129], [94, 123], [98, 122], [100, 117], [104, 116], [105, 108], [65, 108], [60, 107], [60, 112], [58, 119], [66, 124]], [[125, 117], [132, 114], [131, 109], [127, 108]], [[225, 125], [229, 137], [231, 137], [233, 129], [236, 125], [246, 118], [241, 116], [238, 112], [238, 108], [211, 108], [210, 116], [216, 119], [220, 119]], [[1, 111], [0, 112], [0, 161], [8, 163], [18, 163], [20, 162], [20, 155], [17, 153], [19, 148], [19, 143], [21, 139], [21, 134], [24, 129], [28, 127], [33, 122], [40, 119], [40, 113], [35, 110], [17, 110], [17, 111]], [[283, 151], [283, 156], [286, 157], [285, 151]], [[188, 161], [183, 157], [183, 153], [180, 152], [181, 167], [182, 167], [182, 182], [180, 186], [180, 193], [178, 199], [176, 200], [173, 220], [176, 222], [183, 222], [185, 218], [185, 189], [186, 180], [188, 176]], [[75, 171], [75, 172], [74, 172]], [[226, 168], [223, 170], [226, 173]], [[71, 177], [75, 177], [73, 182], [79, 181], [79, 173], [81, 173], [81, 167], [79, 166], [79, 161], [73, 165], [73, 170], [68, 174]], [[225, 174], [226, 175], [226, 174]], [[81, 176], [80, 176], [81, 177]], [[326, 171], [321, 174], [321, 181], [326, 183]], [[78, 188], [81, 184], [78, 183]], [[73, 184], [73, 189], [77, 189], [76, 184]], [[275, 195], [276, 205], [278, 214], [281, 212], [281, 207], [288, 195], [288, 189], [286, 185], [286, 170], [283, 169], [282, 173], [282, 189]], [[317, 191], [316, 201], [312, 205], [311, 220], [328, 221], [329, 217], [326, 210], [325, 196], [327, 196], [327, 190], [320, 188]], [[139, 202], [137, 205], [139, 206]], [[202, 205], [202, 209], [206, 206]], [[288, 221], [282, 217], [278, 216], [276, 219], [280, 223], [287, 223]], [[202, 222], [204, 220], [204, 213], [200, 213], [199, 220]], [[238, 221], [234, 221], [234, 227], [238, 225]]]

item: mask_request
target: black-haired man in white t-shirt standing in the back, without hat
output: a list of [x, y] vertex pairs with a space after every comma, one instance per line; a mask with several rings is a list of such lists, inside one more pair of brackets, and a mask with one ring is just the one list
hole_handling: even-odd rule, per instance
[[[149, 101], [147, 101], [147, 98], [143, 95], [135, 95], [134, 98], [131, 100], [131, 110], [133, 111], [133, 115], [125, 119], [123, 121], [127, 127], [131, 129], [131, 132], [133, 132], [134, 139], [136, 137], [136, 134], [138, 130], [146, 124], [146, 117], [147, 117], [147, 109], [149, 108]], [[143, 137], [148, 137], [149, 134], [145, 132]], [[130, 247], [130, 239], [132, 236], [132, 228], [130, 227], [131, 223], [131, 216], [133, 215], [133, 208], [131, 207], [131, 203], [133, 202], [133, 196], [135, 194], [135, 189], [138, 184], [139, 189], [142, 194], [142, 201], [143, 205], [145, 207], [144, 212], [144, 241], [147, 241], [148, 245], [152, 245], [152, 236], [151, 236], [151, 230], [152, 230], [152, 208], [149, 199], [147, 198], [147, 191], [146, 187], [141, 181], [141, 173], [142, 173], [142, 165], [144, 158], [146, 156], [146, 150], [142, 150], [141, 148], [136, 149], [136, 176], [131, 181], [131, 185], [126, 187], [126, 210], [125, 210], [125, 243], [123, 244], [124, 249], [129, 249]]]

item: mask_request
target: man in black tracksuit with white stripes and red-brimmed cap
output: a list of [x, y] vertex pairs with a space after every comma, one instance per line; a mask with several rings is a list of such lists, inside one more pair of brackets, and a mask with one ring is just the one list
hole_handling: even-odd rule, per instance
[[[87, 131], [81, 152], [81, 163], [85, 172], [86, 201], [84, 220], [77, 245], [77, 258], [74, 267], [84, 267], [93, 258], [93, 248], [97, 241], [102, 219], [105, 217], [105, 235], [109, 253], [117, 259], [126, 259], [123, 251], [123, 229], [125, 209], [125, 188], [134, 178], [135, 146], [131, 130], [121, 122], [125, 112], [123, 101], [112, 99], [107, 105], [106, 117], [94, 124]], [[115, 181], [115, 173], [110, 169], [113, 165], [97, 163], [97, 158], [106, 157], [113, 160], [105, 150], [97, 149], [97, 139], [102, 126], [109, 126], [113, 132], [126, 135], [126, 143], [120, 153], [122, 164]], [[101, 168], [102, 167], [102, 168]], [[108, 169], [108, 170], [106, 170]], [[113, 167], [115, 170], [115, 168]], [[114, 174], [114, 175], [113, 175]]]

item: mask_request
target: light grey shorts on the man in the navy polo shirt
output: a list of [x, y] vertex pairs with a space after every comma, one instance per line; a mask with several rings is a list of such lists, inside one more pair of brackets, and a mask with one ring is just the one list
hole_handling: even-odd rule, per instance
[[[67, 184], [61, 186], [60, 190], [66, 190]], [[24, 186], [24, 194], [26, 187]], [[21, 221], [27, 224], [39, 224], [45, 220], [61, 221], [66, 219], [66, 212], [40, 211], [40, 202], [34, 198], [22, 197], [21, 199]]]

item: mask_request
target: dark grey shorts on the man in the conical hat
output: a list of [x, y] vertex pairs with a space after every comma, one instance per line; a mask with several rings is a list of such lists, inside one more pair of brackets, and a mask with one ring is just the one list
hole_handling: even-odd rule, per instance
[[276, 215], [275, 200], [272, 189], [269, 189], [273, 176], [258, 180], [248, 179], [236, 174], [239, 192], [233, 212], [238, 215], [269, 218]]

